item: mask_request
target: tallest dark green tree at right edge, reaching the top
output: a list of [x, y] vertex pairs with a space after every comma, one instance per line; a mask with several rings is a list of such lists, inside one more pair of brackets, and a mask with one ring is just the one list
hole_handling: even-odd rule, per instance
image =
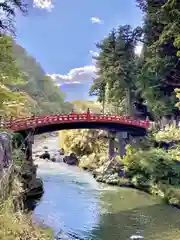
[[176, 0], [137, 0], [145, 13], [142, 70], [136, 82], [155, 117], [173, 114], [180, 86], [178, 39], [180, 7]]

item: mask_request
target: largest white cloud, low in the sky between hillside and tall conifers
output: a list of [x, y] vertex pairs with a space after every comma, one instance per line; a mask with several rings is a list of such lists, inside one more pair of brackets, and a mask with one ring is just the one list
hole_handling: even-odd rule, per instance
[[49, 74], [56, 85], [88, 83], [96, 77], [96, 67], [87, 65], [80, 68], [71, 69], [66, 75]]

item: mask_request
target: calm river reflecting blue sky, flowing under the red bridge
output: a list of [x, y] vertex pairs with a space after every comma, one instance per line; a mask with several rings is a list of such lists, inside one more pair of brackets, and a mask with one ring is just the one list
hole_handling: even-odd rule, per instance
[[[34, 152], [58, 149], [57, 137], [34, 144]], [[179, 240], [180, 211], [146, 193], [97, 183], [83, 170], [37, 160], [45, 193], [33, 217], [66, 239]], [[59, 233], [59, 236], [62, 236]], [[59, 238], [61, 239], [61, 238]]]

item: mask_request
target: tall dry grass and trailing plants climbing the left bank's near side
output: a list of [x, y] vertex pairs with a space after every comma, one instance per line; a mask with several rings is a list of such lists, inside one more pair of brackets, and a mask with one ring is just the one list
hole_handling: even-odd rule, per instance
[[0, 180], [0, 240], [52, 240], [50, 228], [32, 222], [31, 213], [23, 209], [23, 186], [14, 171]]

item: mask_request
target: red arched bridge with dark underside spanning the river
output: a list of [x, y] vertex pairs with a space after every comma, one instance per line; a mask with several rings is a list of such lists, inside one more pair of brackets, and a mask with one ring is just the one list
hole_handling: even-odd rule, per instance
[[149, 122], [135, 120], [127, 116], [71, 113], [69, 115], [56, 114], [11, 119], [4, 125], [8, 129], [22, 134], [33, 130], [34, 135], [64, 129], [91, 128], [127, 132], [132, 136], [143, 136], [146, 134]]

